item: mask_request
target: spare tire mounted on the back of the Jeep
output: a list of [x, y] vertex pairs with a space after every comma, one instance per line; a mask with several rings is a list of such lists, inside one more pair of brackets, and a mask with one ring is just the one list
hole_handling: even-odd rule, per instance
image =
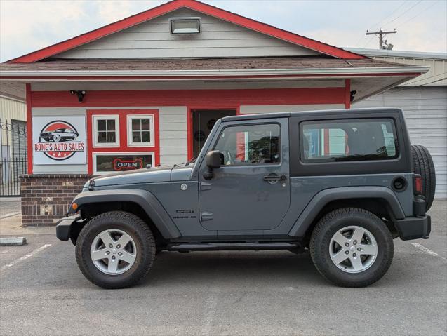
[[413, 172], [422, 177], [422, 195], [425, 197], [425, 210], [432, 207], [436, 191], [436, 172], [432, 156], [422, 145], [411, 145], [413, 155]]

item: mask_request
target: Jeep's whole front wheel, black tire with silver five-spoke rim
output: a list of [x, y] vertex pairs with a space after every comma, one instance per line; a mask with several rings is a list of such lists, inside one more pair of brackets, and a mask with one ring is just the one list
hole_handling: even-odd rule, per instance
[[140, 217], [111, 211], [93, 217], [76, 241], [76, 261], [86, 278], [102, 288], [138, 283], [155, 257], [152, 232]]

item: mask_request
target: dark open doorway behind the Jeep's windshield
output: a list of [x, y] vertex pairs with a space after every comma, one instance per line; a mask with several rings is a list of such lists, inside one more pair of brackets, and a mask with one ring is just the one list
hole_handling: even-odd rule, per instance
[[218, 119], [236, 115], [236, 109], [193, 109], [192, 110], [192, 154], [198, 156], [206, 138]]

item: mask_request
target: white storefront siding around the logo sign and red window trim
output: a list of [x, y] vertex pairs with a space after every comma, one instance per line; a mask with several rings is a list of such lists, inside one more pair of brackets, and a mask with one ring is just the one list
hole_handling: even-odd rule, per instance
[[[76, 107], [76, 108], [41, 108], [32, 109], [33, 116], [86, 116], [87, 109], [158, 109], [159, 110], [159, 145], [160, 164], [166, 166], [172, 163], [187, 161], [187, 108], [177, 107]], [[87, 153], [91, 155], [91, 153]], [[86, 174], [87, 165], [33, 165], [33, 173], [76, 173]]]

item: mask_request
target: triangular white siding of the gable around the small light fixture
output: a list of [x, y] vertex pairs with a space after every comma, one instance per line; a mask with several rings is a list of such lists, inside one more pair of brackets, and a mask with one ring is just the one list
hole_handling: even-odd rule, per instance
[[[169, 18], [201, 18], [200, 34], [171, 34]], [[53, 58], [213, 58], [318, 55], [302, 46], [182, 8]]]

